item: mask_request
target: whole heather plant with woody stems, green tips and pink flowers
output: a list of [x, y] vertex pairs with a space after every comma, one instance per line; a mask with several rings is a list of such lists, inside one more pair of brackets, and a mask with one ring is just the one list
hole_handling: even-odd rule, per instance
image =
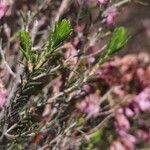
[[[12, 33], [0, 6], [6, 37], [0, 47], [3, 149], [132, 150], [148, 145], [149, 58], [114, 57], [131, 37], [126, 28], [115, 26], [118, 9], [128, 2], [63, 0], [56, 12], [58, 4], [45, 0], [31, 2], [26, 13], [20, 4], [25, 10], [17, 12], [19, 27]], [[54, 16], [46, 14], [49, 8]], [[10, 48], [16, 53], [12, 65], [11, 53], [4, 53]]]

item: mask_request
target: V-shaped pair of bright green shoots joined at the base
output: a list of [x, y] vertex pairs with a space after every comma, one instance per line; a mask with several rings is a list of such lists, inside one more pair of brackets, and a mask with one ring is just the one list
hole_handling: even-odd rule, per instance
[[44, 62], [46, 62], [51, 53], [53, 53], [72, 33], [72, 27], [68, 20], [62, 20], [56, 23], [54, 30], [50, 32], [48, 38], [48, 45], [40, 56], [32, 51], [32, 41], [27, 31], [19, 33], [21, 51], [28, 63], [30, 72], [33, 69], [39, 69]]

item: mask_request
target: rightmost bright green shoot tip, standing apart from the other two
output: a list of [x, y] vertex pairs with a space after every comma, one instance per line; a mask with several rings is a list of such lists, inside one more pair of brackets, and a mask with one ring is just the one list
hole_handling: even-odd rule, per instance
[[128, 40], [129, 34], [127, 30], [124, 27], [116, 28], [112, 33], [112, 37], [106, 47], [106, 50], [100, 56], [99, 64], [104, 63], [108, 58], [120, 51], [120, 49], [125, 46]]

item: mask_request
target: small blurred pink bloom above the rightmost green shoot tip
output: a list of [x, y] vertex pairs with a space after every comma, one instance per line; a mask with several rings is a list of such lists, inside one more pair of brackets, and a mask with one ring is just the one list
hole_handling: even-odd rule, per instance
[[105, 19], [105, 22], [108, 26], [112, 26], [114, 24], [115, 18], [117, 17], [118, 12], [116, 9], [112, 9], [108, 12], [108, 15]]

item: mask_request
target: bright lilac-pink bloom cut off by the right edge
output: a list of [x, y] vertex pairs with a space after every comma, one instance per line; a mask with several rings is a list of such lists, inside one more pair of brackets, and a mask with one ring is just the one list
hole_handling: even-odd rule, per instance
[[142, 111], [150, 110], [150, 88], [146, 88], [134, 99], [134, 102]]

